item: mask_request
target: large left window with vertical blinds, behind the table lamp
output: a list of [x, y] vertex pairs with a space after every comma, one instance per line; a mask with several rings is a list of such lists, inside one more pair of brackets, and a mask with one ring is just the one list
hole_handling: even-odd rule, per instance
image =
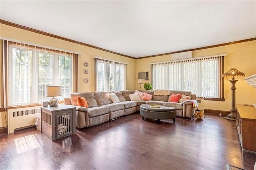
[[62, 86], [63, 100], [74, 91], [74, 53], [5, 41], [7, 106], [42, 103], [46, 86]]

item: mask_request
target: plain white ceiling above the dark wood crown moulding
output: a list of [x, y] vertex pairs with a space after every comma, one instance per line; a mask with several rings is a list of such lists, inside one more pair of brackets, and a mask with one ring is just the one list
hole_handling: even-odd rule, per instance
[[256, 1], [3, 1], [0, 19], [144, 57], [256, 37]]

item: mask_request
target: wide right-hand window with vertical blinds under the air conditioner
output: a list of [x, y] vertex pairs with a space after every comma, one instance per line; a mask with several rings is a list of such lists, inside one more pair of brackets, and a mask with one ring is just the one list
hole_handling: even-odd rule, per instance
[[152, 63], [154, 89], [191, 91], [197, 97], [223, 98], [224, 55]]

